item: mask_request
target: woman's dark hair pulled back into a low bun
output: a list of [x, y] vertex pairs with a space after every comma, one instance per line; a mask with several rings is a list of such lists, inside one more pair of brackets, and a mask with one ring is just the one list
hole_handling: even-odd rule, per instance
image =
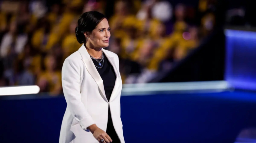
[[85, 12], [78, 19], [78, 26], [76, 27], [76, 39], [82, 44], [86, 43], [84, 32], [91, 32], [103, 20], [104, 14], [96, 11]]

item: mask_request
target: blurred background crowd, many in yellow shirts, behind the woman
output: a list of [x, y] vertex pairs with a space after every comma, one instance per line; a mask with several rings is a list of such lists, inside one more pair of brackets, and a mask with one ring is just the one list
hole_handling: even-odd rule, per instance
[[[123, 83], [147, 83], [172, 69], [214, 26], [214, 0], [196, 6], [166, 0], [116, 0], [108, 19], [107, 50], [119, 55]], [[2, 1], [0, 86], [38, 85], [62, 93], [62, 63], [81, 44], [75, 28], [81, 13], [106, 13], [105, 0]]]

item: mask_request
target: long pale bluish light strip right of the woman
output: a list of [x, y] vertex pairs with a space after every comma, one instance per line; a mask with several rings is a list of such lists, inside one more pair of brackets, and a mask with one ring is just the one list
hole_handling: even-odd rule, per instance
[[198, 90], [225, 90], [230, 88], [226, 81], [205, 82], [177, 82], [177, 83], [145, 83], [124, 84], [122, 94], [135, 94], [154, 91], [198, 91]]

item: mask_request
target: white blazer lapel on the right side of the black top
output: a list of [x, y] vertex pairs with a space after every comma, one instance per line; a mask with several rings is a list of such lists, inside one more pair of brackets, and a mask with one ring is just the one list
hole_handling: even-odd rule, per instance
[[106, 52], [106, 50], [104, 50], [104, 49], [102, 49], [102, 50], [103, 50], [104, 54], [106, 55], [106, 57], [108, 58], [110, 64], [113, 66], [115, 74], [117, 76], [116, 82], [115, 82], [115, 85], [114, 85], [114, 89], [113, 89], [113, 91], [111, 93], [111, 96], [110, 96], [110, 99], [109, 99], [109, 101], [111, 101], [116, 97], [115, 95], [117, 95], [117, 91], [118, 91], [118, 88], [119, 88], [119, 85], [120, 85], [119, 80], [121, 79], [121, 76], [119, 75], [119, 71], [117, 70], [117, 66], [116, 66], [114, 57], [110, 56], [108, 54], [108, 52]]

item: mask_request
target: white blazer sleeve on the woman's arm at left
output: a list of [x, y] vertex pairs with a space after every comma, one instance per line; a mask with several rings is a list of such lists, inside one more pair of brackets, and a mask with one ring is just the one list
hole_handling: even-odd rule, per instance
[[78, 61], [66, 59], [62, 66], [62, 88], [71, 114], [79, 121], [83, 130], [94, 124], [92, 117], [81, 102], [80, 66]]

